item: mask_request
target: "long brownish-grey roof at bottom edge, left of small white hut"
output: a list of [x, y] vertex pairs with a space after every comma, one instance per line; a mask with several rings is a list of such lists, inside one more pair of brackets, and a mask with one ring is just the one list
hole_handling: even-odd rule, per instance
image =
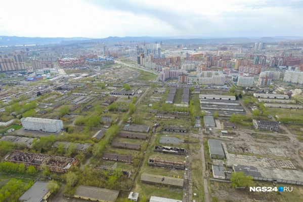
[[104, 200], [109, 202], [114, 202], [118, 197], [119, 191], [103, 189], [93, 186], [80, 185], [76, 189], [75, 196], [82, 196], [91, 199]]

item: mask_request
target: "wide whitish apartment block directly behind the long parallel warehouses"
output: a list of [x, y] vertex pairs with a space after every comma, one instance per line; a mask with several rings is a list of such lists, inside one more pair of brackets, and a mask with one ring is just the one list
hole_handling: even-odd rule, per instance
[[197, 74], [199, 84], [203, 85], [224, 85], [225, 76], [221, 71], [202, 71]]

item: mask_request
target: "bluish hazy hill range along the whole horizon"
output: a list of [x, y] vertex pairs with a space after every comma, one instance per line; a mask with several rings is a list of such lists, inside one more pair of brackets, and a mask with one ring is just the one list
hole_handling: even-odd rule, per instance
[[283, 41], [303, 40], [302, 36], [273, 36], [273, 37], [197, 37], [189, 38], [189, 36], [110, 36], [106, 38], [85, 38], [85, 37], [19, 37], [19, 36], [0, 36], [0, 46], [16, 46], [16, 45], [39, 45], [39, 44], [74, 44], [74, 43], [117, 43], [120, 41], [146, 42], [155, 43], [162, 42], [165, 44], [245, 44], [245, 43], [275, 43]]

